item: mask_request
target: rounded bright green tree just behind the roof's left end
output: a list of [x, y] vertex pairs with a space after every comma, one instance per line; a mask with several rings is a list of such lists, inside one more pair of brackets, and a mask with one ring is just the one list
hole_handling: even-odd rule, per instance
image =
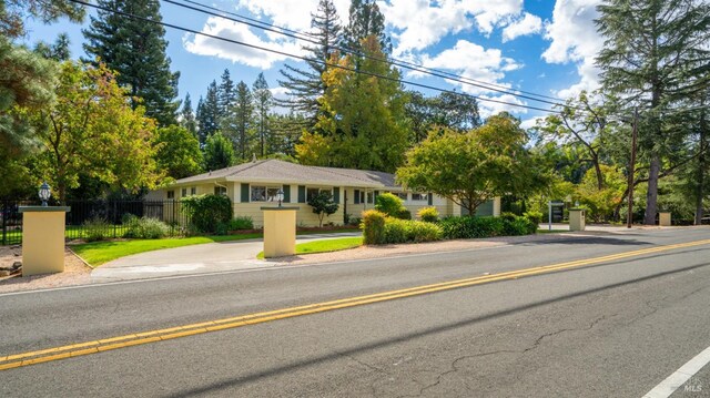
[[197, 137], [185, 127], [171, 125], [158, 129], [153, 140], [159, 170], [175, 180], [202, 172], [202, 152]]

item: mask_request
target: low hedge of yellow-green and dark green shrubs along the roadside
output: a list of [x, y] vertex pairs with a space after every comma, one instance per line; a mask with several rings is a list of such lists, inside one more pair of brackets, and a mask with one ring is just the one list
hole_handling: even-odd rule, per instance
[[438, 222], [420, 222], [388, 217], [378, 211], [363, 213], [363, 243], [383, 245], [408, 242], [432, 242], [439, 239], [469, 239], [494, 236], [530, 235], [537, 231], [537, 223], [514, 214], [500, 217], [449, 216]]

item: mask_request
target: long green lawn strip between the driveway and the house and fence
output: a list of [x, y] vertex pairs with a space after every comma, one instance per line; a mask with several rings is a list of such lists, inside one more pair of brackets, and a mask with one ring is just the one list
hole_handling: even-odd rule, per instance
[[[312, 235], [312, 234], [322, 234], [322, 233], [331, 234], [331, 233], [343, 233], [343, 232], [353, 232], [353, 229], [337, 229], [337, 231], [327, 231], [327, 232], [308, 231], [304, 233], [298, 233], [298, 235]], [[263, 234], [254, 233], [254, 234], [243, 234], [243, 235], [172, 237], [172, 238], [164, 238], [164, 239], [104, 241], [104, 242], [82, 243], [78, 245], [71, 245], [70, 247], [87, 263], [91, 264], [93, 267], [97, 267], [101, 264], [108, 263], [110, 261], [113, 261], [120, 257], [130, 256], [132, 254], [138, 254], [143, 252], [158, 251], [161, 248], [182, 247], [182, 246], [199, 245], [199, 244], [212, 243], [212, 242], [254, 239], [254, 238], [261, 238], [261, 237], [263, 237]], [[362, 244], [362, 237], [355, 237], [354, 239], [361, 239], [361, 244]], [[341, 241], [341, 239], [336, 239], [336, 241]], [[354, 246], [351, 246], [351, 247], [354, 247]], [[347, 248], [347, 247], [343, 247], [343, 248]], [[343, 248], [337, 248], [337, 249], [343, 249]], [[304, 253], [313, 253], [313, 252], [304, 252]]]

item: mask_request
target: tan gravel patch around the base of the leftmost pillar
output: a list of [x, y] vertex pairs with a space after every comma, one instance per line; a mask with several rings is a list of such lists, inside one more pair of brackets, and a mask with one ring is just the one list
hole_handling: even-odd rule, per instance
[[[22, 249], [19, 246], [0, 246], [0, 267], [11, 266], [22, 261]], [[0, 293], [34, 290], [60, 286], [84, 285], [91, 282], [91, 267], [77, 257], [71, 251], [64, 253], [64, 272], [20, 276], [19, 274], [0, 277]]]

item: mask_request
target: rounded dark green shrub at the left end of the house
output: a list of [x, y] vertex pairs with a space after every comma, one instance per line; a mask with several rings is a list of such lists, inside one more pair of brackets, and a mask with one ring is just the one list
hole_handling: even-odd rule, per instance
[[234, 208], [229, 196], [197, 195], [181, 200], [191, 226], [201, 233], [214, 233], [221, 223], [232, 220]]

